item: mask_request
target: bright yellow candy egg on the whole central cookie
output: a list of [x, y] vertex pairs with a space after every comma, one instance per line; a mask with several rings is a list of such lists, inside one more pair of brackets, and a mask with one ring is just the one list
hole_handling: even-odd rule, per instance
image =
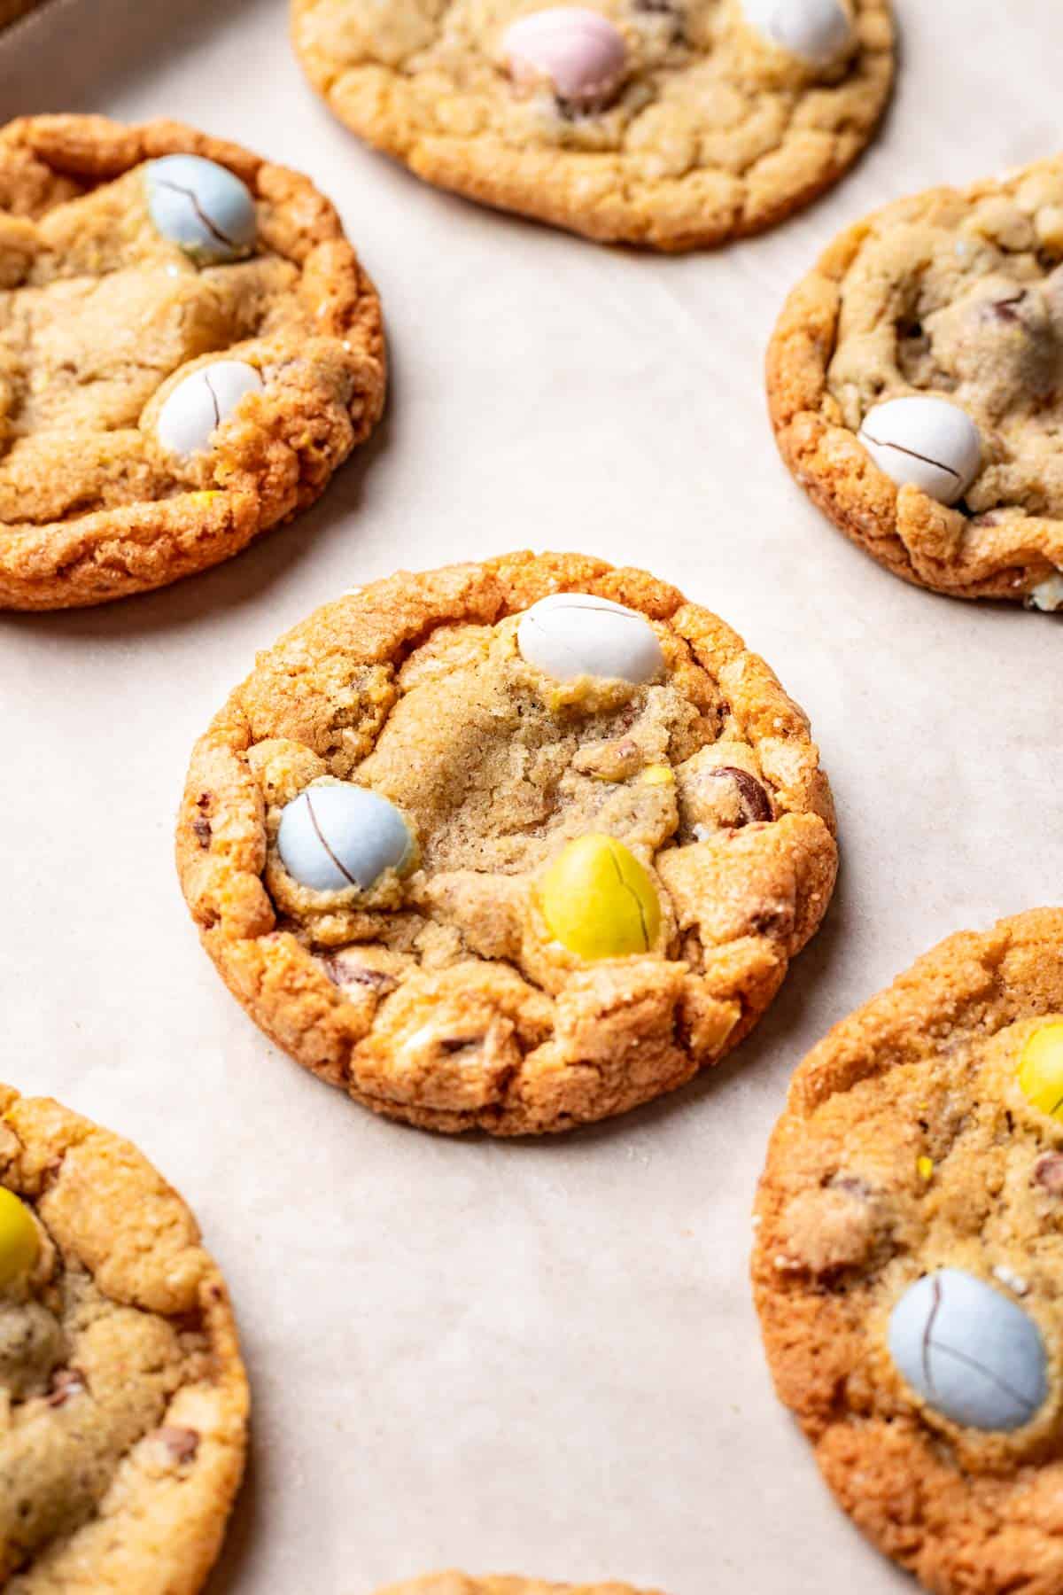
[[550, 935], [580, 959], [647, 952], [661, 924], [653, 882], [612, 836], [569, 842], [547, 869], [539, 901]]

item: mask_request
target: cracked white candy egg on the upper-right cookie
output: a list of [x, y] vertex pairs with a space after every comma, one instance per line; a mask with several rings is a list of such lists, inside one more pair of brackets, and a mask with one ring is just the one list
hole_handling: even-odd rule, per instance
[[888, 399], [869, 410], [859, 439], [897, 486], [912, 483], [939, 504], [961, 499], [982, 469], [982, 434], [945, 399]]

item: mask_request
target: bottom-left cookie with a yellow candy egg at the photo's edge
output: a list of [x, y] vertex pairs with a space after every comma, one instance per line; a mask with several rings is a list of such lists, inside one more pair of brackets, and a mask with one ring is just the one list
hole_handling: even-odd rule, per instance
[[0, 1585], [191, 1595], [245, 1429], [225, 1282], [177, 1191], [0, 1086]]

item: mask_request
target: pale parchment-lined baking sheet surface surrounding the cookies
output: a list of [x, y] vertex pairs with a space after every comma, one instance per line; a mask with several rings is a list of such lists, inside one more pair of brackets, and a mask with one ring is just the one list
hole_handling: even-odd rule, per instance
[[[131, 1136], [236, 1298], [253, 1466], [212, 1595], [368, 1595], [441, 1565], [669, 1595], [907, 1587], [778, 1407], [746, 1284], [790, 1069], [918, 952], [1060, 898], [1060, 627], [904, 587], [768, 435], [781, 298], [867, 209], [1058, 147], [1063, 13], [902, 0], [900, 89], [846, 182], [681, 260], [421, 187], [335, 124], [280, 0], [54, 0], [0, 45], [0, 112], [169, 115], [306, 169], [384, 295], [392, 404], [322, 504], [207, 576], [0, 616], [3, 1073]], [[806, 707], [845, 866], [739, 1056], [561, 1140], [389, 1126], [223, 990], [171, 858], [193, 738], [317, 603], [397, 563], [532, 545], [649, 563]]]

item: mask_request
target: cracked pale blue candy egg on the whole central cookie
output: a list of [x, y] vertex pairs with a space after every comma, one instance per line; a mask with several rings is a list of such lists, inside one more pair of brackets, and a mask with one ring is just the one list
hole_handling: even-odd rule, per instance
[[314, 892], [368, 892], [386, 869], [414, 858], [406, 821], [367, 786], [308, 786], [280, 815], [277, 852], [288, 874]]

